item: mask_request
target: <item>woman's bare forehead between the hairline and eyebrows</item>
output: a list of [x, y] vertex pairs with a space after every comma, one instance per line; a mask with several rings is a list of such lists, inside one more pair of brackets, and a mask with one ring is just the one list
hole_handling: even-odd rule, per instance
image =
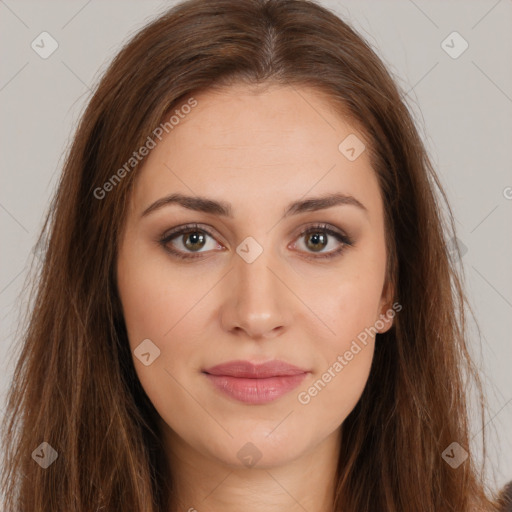
[[177, 190], [228, 199], [235, 213], [237, 205], [272, 207], [308, 191], [374, 203], [380, 195], [368, 151], [350, 160], [343, 144], [340, 150], [344, 140], [362, 145], [364, 134], [318, 91], [236, 85], [193, 97], [188, 113], [175, 108], [177, 122], [147, 157], [134, 191], [137, 209]]

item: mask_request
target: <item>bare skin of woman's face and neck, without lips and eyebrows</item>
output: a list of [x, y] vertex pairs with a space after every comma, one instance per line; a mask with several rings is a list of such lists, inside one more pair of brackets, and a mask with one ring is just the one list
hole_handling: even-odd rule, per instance
[[[133, 360], [161, 417], [179, 489], [173, 511], [330, 510], [340, 427], [367, 382], [374, 338], [307, 405], [298, 395], [392, 303], [368, 151], [349, 161], [338, 149], [349, 134], [364, 136], [305, 87], [240, 84], [194, 97], [198, 105], [137, 177], [117, 265], [132, 353], [145, 339], [160, 349], [149, 366]], [[142, 216], [178, 192], [229, 202], [233, 217], [177, 204]], [[283, 218], [290, 202], [333, 192], [366, 210], [338, 205]], [[202, 247], [196, 241], [196, 252], [187, 251], [183, 235], [168, 246], [199, 258], [181, 260], [159, 243], [166, 231], [194, 222], [212, 234]], [[349, 234], [353, 245], [318, 259], [342, 243], [327, 234], [325, 247], [311, 246], [311, 235], [300, 233], [315, 223]], [[248, 236], [263, 248], [252, 263], [236, 252]], [[379, 331], [391, 324], [385, 319]], [[202, 373], [234, 359], [281, 359], [311, 373], [277, 400], [248, 405]], [[261, 454], [254, 467], [237, 457], [248, 442]]]

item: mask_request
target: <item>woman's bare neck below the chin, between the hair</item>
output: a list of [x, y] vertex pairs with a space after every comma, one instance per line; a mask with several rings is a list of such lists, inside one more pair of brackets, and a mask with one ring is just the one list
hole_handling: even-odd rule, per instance
[[339, 430], [282, 465], [233, 466], [200, 453], [164, 426], [173, 487], [172, 512], [331, 512]]

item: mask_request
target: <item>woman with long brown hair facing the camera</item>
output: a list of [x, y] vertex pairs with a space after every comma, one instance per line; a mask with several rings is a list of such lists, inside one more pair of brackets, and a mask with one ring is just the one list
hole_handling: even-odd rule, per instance
[[499, 510], [437, 194], [328, 10], [189, 0], [144, 28], [47, 219], [7, 509]]

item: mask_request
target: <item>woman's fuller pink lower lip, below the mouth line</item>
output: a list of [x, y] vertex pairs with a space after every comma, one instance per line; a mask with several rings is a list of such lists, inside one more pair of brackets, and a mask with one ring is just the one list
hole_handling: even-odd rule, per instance
[[266, 404], [295, 389], [307, 373], [268, 377], [266, 379], [244, 379], [227, 375], [206, 374], [210, 382], [226, 395], [246, 404]]

